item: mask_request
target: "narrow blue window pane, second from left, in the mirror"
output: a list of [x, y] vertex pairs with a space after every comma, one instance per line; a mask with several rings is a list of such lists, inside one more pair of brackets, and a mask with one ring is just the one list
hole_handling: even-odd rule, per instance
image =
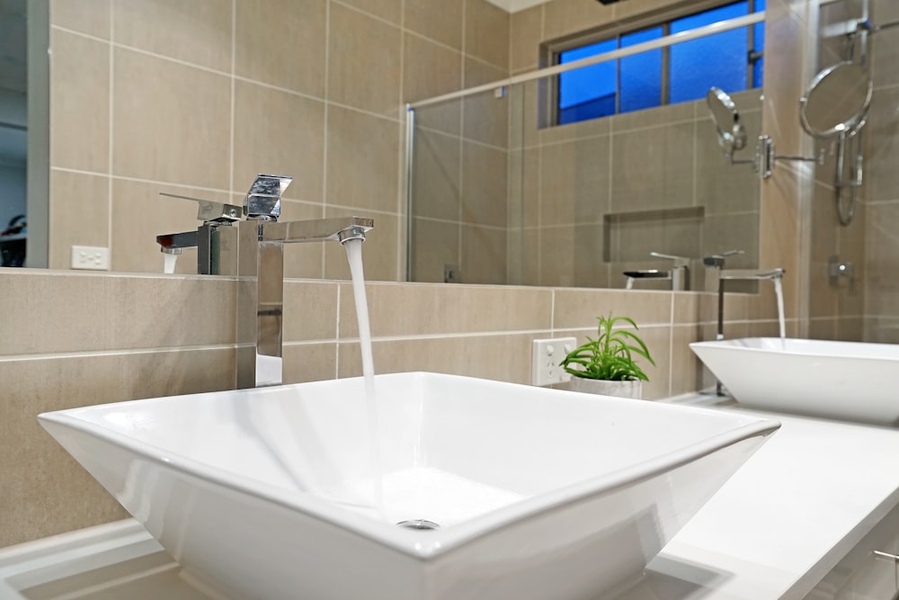
[[[621, 36], [621, 48], [658, 40], [663, 28], [653, 27]], [[662, 103], [662, 50], [649, 50], [619, 61], [619, 112], [639, 111]]]

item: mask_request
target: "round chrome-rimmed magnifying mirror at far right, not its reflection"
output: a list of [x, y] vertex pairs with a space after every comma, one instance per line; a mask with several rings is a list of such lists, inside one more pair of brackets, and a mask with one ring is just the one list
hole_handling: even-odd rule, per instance
[[841, 62], [814, 76], [799, 100], [799, 121], [815, 138], [831, 138], [864, 123], [874, 85], [868, 71]]

